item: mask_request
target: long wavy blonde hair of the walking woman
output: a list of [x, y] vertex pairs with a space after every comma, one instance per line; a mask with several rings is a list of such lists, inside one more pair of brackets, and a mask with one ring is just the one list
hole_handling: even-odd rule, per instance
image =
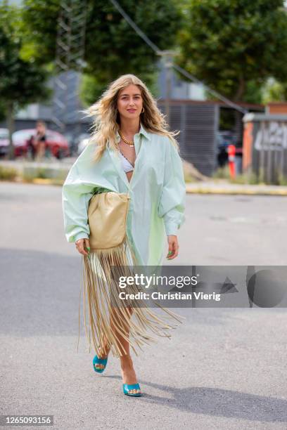
[[168, 124], [165, 122], [165, 115], [158, 109], [156, 100], [148, 90], [144, 82], [134, 74], [123, 74], [108, 85], [101, 98], [83, 112], [86, 117], [94, 117], [94, 124], [91, 126], [92, 133], [89, 143], [96, 143], [94, 162], [101, 159], [108, 141], [110, 147], [117, 150], [117, 130], [120, 126], [120, 114], [117, 111], [117, 97], [120, 90], [134, 84], [139, 87], [143, 98], [144, 112], [140, 115], [140, 122], [146, 131], [162, 134], [170, 138], [171, 143], [179, 151], [179, 144], [174, 136], [180, 131], [168, 131]]

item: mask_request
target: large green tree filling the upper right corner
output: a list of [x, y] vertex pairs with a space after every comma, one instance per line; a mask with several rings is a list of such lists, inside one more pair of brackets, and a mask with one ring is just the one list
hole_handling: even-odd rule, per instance
[[177, 63], [234, 101], [268, 77], [286, 81], [287, 16], [283, 0], [187, 0]]

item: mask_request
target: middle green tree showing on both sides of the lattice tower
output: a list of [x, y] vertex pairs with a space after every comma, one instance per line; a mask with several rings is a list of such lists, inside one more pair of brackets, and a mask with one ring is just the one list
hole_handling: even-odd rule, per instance
[[[181, 22], [175, 0], [122, 0], [120, 5], [160, 49], [174, 45], [174, 34]], [[24, 1], [27, 51], [33, 53], [38, 63], [55, 58], [59, 11], [60, 0]], [[106, 0], [87, 0], [86, 28], [84, 74], [88, 77], [84, 82], [92, 82], [95, 96], [120, 74], [137, 74], [147, 85], [153, 84], [159, 57], [113, 4]]]

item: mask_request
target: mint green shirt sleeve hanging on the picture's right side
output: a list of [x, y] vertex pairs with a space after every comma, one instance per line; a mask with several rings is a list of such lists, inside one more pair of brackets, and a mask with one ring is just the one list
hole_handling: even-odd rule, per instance
[[165, 233], [167, 235], [177, 235], [178, 228], [186, 219], [184, 216], [186, 184], [179, 152], [170, 142], [170, 139], [167, 139], [164, 180], [158, 205], [158, 216], [163, 217]]

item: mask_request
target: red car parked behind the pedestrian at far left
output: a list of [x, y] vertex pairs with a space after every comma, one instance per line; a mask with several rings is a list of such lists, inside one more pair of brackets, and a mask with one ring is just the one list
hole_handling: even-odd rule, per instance
[[[15, 147], [15, 157], [27, 155], [28, 141], [35, 134], [35, 129], [19, 130], [13, 133], [12, 140]], [[54, 157], [59, 159], [70, 155], [68, 141], [58, 131], [46, 129], [46, 148], [51, 151]]]

